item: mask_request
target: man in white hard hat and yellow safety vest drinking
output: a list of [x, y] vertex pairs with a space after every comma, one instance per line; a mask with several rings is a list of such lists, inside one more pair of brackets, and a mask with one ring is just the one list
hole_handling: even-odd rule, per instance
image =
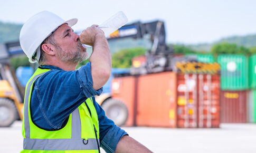
[[[31, 63], [38, 62], [26, 86], [22, 152], [151, 152], [105, 116], [93, 96], [100, 95], [111, 73], [111, 55], [101, 29], [92, 25], [81, 35], [51, 12], [27, 21], [21, 47]], [[90, 62], [87, 44], [93, 47]], [[40, 151], [39, 151], [40, 150]]]

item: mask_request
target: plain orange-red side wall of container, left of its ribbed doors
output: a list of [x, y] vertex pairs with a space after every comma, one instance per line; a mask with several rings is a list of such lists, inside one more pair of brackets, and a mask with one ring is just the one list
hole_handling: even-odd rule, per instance
[[136, 125], [176, 127], [176, 91], [175, 73], [139, 76]]

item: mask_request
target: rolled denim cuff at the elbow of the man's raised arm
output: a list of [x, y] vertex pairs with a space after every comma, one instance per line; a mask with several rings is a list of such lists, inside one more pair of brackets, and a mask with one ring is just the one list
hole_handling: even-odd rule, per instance
[[99, 96], [102, 93], [102, 87], [98, 90], [92, 88], [93, 81], [91, 76], [91, 63], [88, 62], [82, 66], [77, 73], [78, 83], [86, 97]]

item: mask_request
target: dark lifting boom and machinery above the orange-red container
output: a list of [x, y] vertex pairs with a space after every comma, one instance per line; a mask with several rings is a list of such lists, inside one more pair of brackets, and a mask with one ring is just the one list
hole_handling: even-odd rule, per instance
[[173, 48], [168, 47], [165, 42], [165, 26], [162, 21], [154, 21], [149, 23], [132, 23], [125, 25], [116, 32], [110, 34], [108, 40], [115, 40], [120, 38], [143, 38], [149, 35], [152, 47], [142, 58], [134, 59], [132, 63], [139, 63], [131, 67], [131, 75], [141, 75], [148, 73], [163, 72], [165, 70], [172, 70]]

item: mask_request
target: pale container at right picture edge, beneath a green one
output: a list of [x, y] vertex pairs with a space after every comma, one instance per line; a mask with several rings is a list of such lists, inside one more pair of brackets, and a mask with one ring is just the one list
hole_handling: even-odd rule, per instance
[[249, 90], [247, 106], [248, 122], [256, 123], [256, 89]]

